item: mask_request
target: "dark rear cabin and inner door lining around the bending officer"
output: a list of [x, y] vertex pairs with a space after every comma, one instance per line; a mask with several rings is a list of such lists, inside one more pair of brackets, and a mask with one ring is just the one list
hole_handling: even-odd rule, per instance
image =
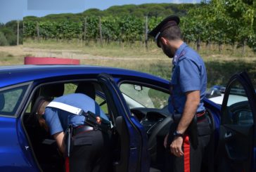
[[[56, 97], [68, 93], [84, 93], [89, 95], [98, 102], [101, 109], [103, 109], [111, 121], [114, 119], [114, 117], [110, 117], [110, 113], [112, 112], [109, 110], [110, 107], [108, 107], [105, 101], [101, 86], [99, 86], [95, 81], [74, 81], [39, 86], [39, 88], [34, 91], [30, 105], [27, 107], [27, 110], [23, 115], [23, 125], [27, 131], [27, 136], [32, 145], [34, 157], [36, 157], [41, 171], [64, 171], [65, 161], [62, 154], [58, 151], [56, 141], [39, 125], [37, 114], [36, 112], [33, 112], [33, 107], [36, 106], [35, 101], [39, 97], [44, 97], [51, 101]], [[126, 124], [122, 118], [117, 117], [112, 124], [113, 155], [111, 155], [111, 158], [113, 159], [113, 166], [109, 166], [109, 171], [120, 171], [118, 169], [122, 169], [127, 166], [128, 156], [124, 150], [128, 149], [121, 149], [121, 146], [129, 147], [129, 136], [127, 128], [125, 127]], [[116, 170], [114, 170], [114, 168]]]

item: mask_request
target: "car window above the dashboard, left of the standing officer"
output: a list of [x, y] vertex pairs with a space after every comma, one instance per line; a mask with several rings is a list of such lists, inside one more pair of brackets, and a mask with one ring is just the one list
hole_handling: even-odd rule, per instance
[[169, 98], [168, 93], [138, 84], [121, 84], [120, 91], [130, 108], [148, 107], [160, 109], [167, 105]]

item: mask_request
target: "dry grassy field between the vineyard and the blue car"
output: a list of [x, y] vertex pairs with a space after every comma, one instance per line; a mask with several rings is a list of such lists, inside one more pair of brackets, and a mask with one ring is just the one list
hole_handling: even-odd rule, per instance
[[[195, 44], [190, 44], [195, 48]], [[246, 47], [246, 53], [242, 57], [242, 49], [233, 49], [231, 46], [223, 46], [219, 53], [218, 46], [209, 48], [201, 47], [198, 52], [205, 61], [208, 75], [208, 87], [213, 85], [226, 85], [232, 74], [248, 71], [256, 86], [256, 54]], [[172, 59], [167, 58], [162, 50], [153, 42], [148, 44], [148, 49], [141, 42], [134, 44], [95, 44], [84, 43], [78, 40], [72, 41], [34, 41], [25, 40], [23, 53], [13, 55], [11, 52], [2, 52], [0, 49], [1, 65], [21, 65], [25, 55], [36, 57], [62, 57], [80, 60], [82, 65], [102, 65], [110, 67], [122, 67], [131, 70], [148, 72], [165, 79], [171, 77]]]

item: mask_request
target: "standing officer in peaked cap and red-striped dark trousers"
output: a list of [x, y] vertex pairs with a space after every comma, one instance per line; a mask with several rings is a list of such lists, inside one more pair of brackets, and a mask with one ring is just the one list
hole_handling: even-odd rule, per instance
[[148, 34], [173, 58], [168, 107], [174, 123], [164, 143], [172, 154], [168, 164], [175, 172], [199, 172], [211, 132], [203, 105], [207, 74], [200, 55], [182, 41], [179, 22], [169, 16]]

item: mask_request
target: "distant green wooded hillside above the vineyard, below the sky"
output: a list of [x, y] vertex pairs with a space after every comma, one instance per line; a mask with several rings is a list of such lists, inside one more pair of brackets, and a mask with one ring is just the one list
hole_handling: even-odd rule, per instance
[[200, 6], [200, 4], [141, 4], [141, 5], [123, 5], [123, 6], [111, 6], [106, 10], [99, 10], [97, 8], [91, 8], [83, 13], [62, 13], [62, 14], [51, 14], [41, 18], [35, 16], [27, 16], [24, 20], [72, 20], [82, 21], [85, 17], [95, 16], [123, 16], [123, 15], [134, 15], [136, 17], [166, 17], [167, 15], [179, 15], [184, 16], [189, 9]]

